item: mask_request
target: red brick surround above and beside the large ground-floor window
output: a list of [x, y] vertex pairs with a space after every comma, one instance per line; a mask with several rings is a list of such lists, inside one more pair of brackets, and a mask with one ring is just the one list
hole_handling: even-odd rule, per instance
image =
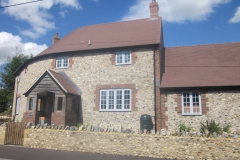
[[131, 89], [132, 90], [132, 111], [137, 111], [138, 108], [136, 106], [136, 102], [138, 99], [136, 98], [137, 89], [135, 84], [108, 84], [108, 85], [97, 85], [96, 90], [94, 91], [95, 94], [95, 107], [93, 111], [100, 110], [100, 90], [101, 89]]

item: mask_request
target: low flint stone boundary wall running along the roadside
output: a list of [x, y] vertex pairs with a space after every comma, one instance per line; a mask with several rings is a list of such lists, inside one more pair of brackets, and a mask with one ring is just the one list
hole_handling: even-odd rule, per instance
[[24, 147], [174, 159], [240, 159], [240, 139], [26, 129]]

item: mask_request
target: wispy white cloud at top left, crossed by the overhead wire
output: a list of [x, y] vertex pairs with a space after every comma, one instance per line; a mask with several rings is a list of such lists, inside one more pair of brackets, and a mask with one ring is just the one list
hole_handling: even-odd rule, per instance
[[[2, 6], [19, 4], [28, 2], [26, 0], [2, 0], [0, 4]], [[35, 3], [29, 3], [14, 7], [8, 7], [4, 10], [5, 14], [8, 14], [19, 21], [24, 21], [30, 24], [31, 28], [21, 30], [21, 34], [31, 37], [33, 39], [38, 38], [50, 29], [55, 28], [53, 22], [53, 15], [49, 13], [49, 10], [54, 5], [61, 5], [61, 7], [71, 7], [74, 9], [82, 9], [77, 0], [45, 0]]]

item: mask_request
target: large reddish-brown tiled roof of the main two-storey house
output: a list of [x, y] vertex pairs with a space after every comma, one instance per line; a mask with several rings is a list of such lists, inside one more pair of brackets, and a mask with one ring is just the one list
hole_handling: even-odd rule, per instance
[[[159, 44], [161, 17], [86, 26], [74, 30], [38, 56], [93, 49]], [[88, 45], [90, 40], [91, 45]]]

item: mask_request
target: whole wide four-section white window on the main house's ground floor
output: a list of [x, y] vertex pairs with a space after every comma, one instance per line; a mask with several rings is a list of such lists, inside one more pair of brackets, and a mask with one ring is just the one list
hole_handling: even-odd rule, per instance
[[100, 90], [100, 111], [131, 111], [131, 90]]

